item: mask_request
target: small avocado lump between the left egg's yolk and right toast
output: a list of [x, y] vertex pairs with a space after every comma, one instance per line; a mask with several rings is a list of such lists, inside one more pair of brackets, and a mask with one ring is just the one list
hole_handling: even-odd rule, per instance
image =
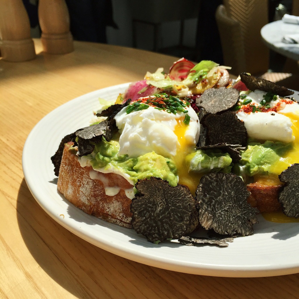
[[219, 149], [202, 150], [187, 156], [187, 162], [190, 163], [189, 170], [199, 173], [208, 173], [223, 171], [230, 172], [232, 159], [228, 153], [222, 153]]

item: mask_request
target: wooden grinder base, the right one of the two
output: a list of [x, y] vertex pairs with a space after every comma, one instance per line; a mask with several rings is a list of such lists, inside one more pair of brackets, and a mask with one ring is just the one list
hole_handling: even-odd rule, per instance
[[38, 14], [44, 52], [66, 54], [74, 51], [70, 18], [65, 1], [39, 0]]

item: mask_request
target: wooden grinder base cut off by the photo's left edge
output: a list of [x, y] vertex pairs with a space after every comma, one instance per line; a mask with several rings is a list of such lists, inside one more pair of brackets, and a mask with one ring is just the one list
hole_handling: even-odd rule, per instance
[[0, 56], [6, 61], [35, 58], [30, 23], [22, 0], [0, 0]]

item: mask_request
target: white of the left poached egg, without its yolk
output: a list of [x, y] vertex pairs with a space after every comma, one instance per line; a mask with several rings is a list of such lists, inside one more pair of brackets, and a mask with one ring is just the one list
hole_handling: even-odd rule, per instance
[[[195, 146], [199, 139], [199, 119], [192, 107], [185, 107], [190, 116], [190, 123], [184, 132], [184, 146]], [[120, 132], [119, 154], [129, 158], [155, 151], [164, 157], [175, 156], [182, 150], [176, 135], [176, 126], [184, 120], [185, 113], [168, 113], [149, 106], [148, 109], [126, 113], [124, 107], [115, 116]]]

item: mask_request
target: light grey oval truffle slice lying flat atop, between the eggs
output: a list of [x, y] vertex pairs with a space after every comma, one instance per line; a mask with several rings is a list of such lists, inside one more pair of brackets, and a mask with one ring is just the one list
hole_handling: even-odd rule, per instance
[[217, 113], [233, 107], [239, 97], [239, 91], [234, 88], [210, 88], [196, 99], [196, 106], [205, 108], [209, 113]]

